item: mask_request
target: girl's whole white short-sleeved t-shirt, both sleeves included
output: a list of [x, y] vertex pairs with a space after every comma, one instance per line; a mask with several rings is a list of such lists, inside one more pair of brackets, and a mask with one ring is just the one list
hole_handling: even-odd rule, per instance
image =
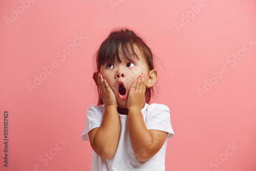
[[[104, 104], [99, 106], [91, 105], [87, 110], [86, 124], [84, 125], [81, 135], [83, 140], [89, 141], [89, 131], [101, 125], [104, 110]], [[168, 133], [159, 152], [147, 161], [137, 160], [129, 137], [127, 115], [121, 115], [118, 113], [119, 140], [116, 153], [111, 159], [103, 159], [93, 151], [91, 171], [165, 170], [165, 150], [167, 139], [174, 136], [174, 131], [170, 123], [169, 108], [164, 104], [152, 103], [149, 105], [145, 103], [141, 112], [148, 130], [160, 130]]]

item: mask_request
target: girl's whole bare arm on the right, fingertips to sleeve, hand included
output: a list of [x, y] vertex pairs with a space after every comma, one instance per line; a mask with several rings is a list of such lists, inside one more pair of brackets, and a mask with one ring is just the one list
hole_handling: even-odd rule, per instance
[[128, 127], [133, 151], [139, 161], [153, 157], [163, 146], [168, 133], [159, 130], [147, 130], [141, 110], [145, 104], [147, 76], [142, 73], [131, 86], [127, 99]]

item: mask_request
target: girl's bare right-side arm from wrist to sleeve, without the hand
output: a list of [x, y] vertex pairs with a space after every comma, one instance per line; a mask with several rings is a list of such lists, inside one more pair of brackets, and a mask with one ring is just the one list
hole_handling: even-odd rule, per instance
[[139, 161], [153, 157], [163, 146], [166, 132], [147, 130], [141, 109], [132, 108], [128, 114], [128, 127], [133, 151]]

